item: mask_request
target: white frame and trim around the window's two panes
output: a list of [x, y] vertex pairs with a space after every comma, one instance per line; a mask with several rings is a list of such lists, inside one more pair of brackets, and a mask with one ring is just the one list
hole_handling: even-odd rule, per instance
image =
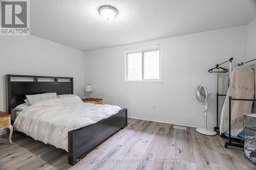
[[[144, 77], [144, 52], [150, 52], [150, 51], [156, 51], [159, 50], [159, 79], [143, 79]], [[132, 53], [141, 53], [141, 74], [142, 74], [142, 80], [128, 80], [128, 54]], [[137, 51], [127, 51], [124, 53], [124, 82], [126, 83], [162, 83], [163, 82], [163, 47], [161, 45], [153, 46], [151, 48], [145, 48], [143, 50], [137, 50]]]

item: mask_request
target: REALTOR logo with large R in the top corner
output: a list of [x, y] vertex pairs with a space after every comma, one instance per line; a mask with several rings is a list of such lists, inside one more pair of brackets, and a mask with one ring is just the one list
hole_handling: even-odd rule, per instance
[[0, 0], [0, 35], [29, 35], [29, 0]]

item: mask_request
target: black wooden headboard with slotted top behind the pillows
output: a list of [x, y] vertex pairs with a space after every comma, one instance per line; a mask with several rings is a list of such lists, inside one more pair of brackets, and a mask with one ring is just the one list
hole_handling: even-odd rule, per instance
[[11, 113], [12, 108], [24, 103], [27, 94], [73, 94], [73, 78], [68, 77], [6, 75], [6, 83], [8, 113]]

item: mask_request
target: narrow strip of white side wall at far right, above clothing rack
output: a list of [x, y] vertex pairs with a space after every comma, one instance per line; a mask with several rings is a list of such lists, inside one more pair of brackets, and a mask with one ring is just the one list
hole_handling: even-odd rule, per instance
[[256, 58], [256, 18], [247, 25], [247, 60]]

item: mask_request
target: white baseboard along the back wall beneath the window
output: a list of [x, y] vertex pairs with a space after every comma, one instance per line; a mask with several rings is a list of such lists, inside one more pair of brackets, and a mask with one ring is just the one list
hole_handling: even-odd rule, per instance
[[[164, 120], [164, 119], [157, 119], [157, 118], [151, 118], [151, 117], [144, 117], [144, 116], [134, 116], [134, 115], [128, 115], [129, 118], [136, 118], [141, 120], [148, 120], [153, 122], [160, 122], [165, 124], [173, 124], [173, 125], [180, 125], [180, 126], [188, 126], [188, 127], [194, 127], [194, 128], [203, 128], [203, 125], [198, 124], [190, 124], [190, 123], [184, 123], [184, 122], [177, 122], [172, 120]], [[213, 130], [214, 127], [208, 126], [207, 127], [210, 130]]]

